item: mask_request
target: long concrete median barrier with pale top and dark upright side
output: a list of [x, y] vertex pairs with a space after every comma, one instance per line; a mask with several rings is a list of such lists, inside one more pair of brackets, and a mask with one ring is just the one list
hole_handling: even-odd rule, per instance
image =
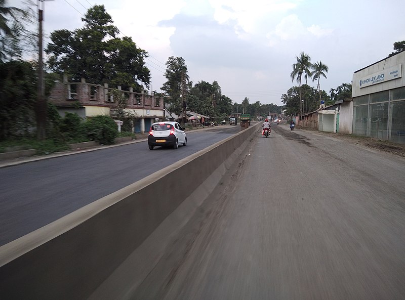
[[87, 299], [259, 125], [0, 247], [0, 299]]

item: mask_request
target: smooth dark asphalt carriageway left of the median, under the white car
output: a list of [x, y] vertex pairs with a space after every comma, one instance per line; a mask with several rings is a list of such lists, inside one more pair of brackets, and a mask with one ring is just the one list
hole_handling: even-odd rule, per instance
[[177, 150], [147, 142], [0, 168], [0, 245], [240, 131], [218, 126], [187, 134]]

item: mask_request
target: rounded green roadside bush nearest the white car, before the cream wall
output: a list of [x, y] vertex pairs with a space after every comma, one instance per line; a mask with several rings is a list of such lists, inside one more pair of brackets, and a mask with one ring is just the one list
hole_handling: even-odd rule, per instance
[[95, 116], [86, 121], [84, 125], [86, 135], [100, 144], [114, 144], [114, 139], [118, 135], [117, 125], [110, 116]]

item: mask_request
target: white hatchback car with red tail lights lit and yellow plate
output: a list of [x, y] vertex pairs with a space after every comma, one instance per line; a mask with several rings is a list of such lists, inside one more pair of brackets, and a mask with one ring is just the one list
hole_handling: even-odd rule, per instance
[[184, 128], [178, 122], [157, 122], [150, 127], [148, 146], [153, 150], [155, 146], [171, 146], [174, 149], [187, 145]]

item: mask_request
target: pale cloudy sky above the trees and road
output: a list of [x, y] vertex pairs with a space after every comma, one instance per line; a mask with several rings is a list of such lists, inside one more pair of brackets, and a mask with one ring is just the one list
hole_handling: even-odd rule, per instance
[[248, 97], [282, 105], [281, 95], [298, 85], [290, 74], [301, 52], [329, 67], [320, 80], [329, 94], [405, 40], [403, 0], [47, 0], [44, 34], [83, 27], [81, 18], [96, 4], [148, 52], [150, 90], [159, 92], [166, 81], [168, 58], [182, 57], [193, 84], [216, 80], [237, 103]]

